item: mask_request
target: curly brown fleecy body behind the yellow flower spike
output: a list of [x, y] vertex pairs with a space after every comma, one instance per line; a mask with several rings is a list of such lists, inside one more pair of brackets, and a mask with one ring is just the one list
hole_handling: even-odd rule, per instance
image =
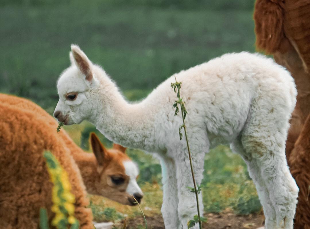
[[55, 127], [34, 112], [2, 102], [0, 114], [0, 228], [38, 228], [40, 207], [53, 217], [44, 151], [51, 151], [68, 173], [80, 228], [93, 228], [78, 167]]

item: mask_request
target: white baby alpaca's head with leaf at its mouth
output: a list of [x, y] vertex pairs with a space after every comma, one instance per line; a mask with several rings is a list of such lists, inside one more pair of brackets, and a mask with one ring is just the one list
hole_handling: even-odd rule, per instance
[[65, 125], [79, 124], [91, 113], [91, 91], [99, 87], [95, 65], [77, 46], [71, 45], [71, 66], [57, 82], [59, 101], [54, 116]]

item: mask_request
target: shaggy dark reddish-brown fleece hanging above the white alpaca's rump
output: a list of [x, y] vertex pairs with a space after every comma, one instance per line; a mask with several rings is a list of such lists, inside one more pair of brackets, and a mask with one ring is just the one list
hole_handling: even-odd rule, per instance
[[290, 42], [310, 69], [309, 0], [256, 0], [253, 18], [257, 49], [284, 53]]

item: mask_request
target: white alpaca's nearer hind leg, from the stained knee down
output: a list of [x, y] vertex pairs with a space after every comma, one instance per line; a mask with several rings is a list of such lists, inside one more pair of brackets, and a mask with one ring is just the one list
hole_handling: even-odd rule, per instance
[[[244, 139], [246, 138], [247, 137]], [[282, 227], [285, 229], [292, 229], [297, 204], [298, 187], [287, 167], [284, 149], [285, 141], [281, 143], [271, 143], [268, 141], [253, 142], [252, 138], [249, 139], [251, 140], [243, 141], [243, 146], [246, 151], [256, 151], [256, 153], [252, 153], [252, 156], [256, 159], [261, 176], [269, 191], [270, 202], [275, 209], [275, 228]], [[271, 225], [269, 226], [269, 220], [271, 221], [270, 216], [266, 215], [266, 219], [268, 223], [266, 224], [266, 228], [272, 227], [272, 223], [270, 223]]]

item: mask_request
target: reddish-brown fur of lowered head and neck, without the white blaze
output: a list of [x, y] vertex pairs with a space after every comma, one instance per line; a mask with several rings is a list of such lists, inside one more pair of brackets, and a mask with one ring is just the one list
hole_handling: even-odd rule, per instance
[[[126, 193], [129, 177], [125, 173], [123, 163], [120, 163], [130, 160], [125, 154], [126, 148], [114, 144], [113, 149], [107, 150], [94, 133], [91, 134], [91, 145], [97, 159], [93, 154], [85, 155], [85, 153], [74, 157], [81, 170], [87, 191], [108, 197], [124, 205], [133, 205], [134, 199]], [[123, 151], [118, 150], [121, 147]], [[113, 184], [111, 176], [123, 178], [124, 184]]]

